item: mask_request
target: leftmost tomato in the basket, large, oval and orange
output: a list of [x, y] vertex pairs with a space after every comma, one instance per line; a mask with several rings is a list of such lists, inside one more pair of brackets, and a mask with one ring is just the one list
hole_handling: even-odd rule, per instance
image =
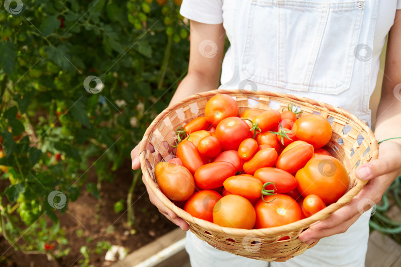
[[154, 174], [160, 191], [171, 200], [187, 200], [195, 191], [194, 177], [183, 166], [159, 162]]

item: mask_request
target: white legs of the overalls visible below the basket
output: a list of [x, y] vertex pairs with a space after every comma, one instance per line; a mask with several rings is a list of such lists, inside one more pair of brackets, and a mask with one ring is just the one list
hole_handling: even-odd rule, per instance
[[285, 263], [267, 263], [221, 251], [187, 232], [185, 248], [192, 267], [364, 267], [369, 238], [369, 215], [362, 214], [342, 234], [320, 239], [314, 247]]

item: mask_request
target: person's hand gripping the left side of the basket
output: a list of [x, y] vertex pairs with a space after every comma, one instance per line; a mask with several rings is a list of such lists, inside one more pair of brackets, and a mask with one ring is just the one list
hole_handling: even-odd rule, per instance
[[[139, 146], [141, 142], [131, 151], [131, 160], [132, 160], [132, 169], [138, 170], [141, 167], [141, 162], [139, 161]], [[148, 149], [153, 152], [153, 146], [149, 145]], [[176, 225], [180, 226], [181, 229], [187, 231], [189, 229], [189, 224], [186, 223], [184, 220], [179, 218], [177, 214], [173, 211], [169, 210], [164, 204], [156, 197], [153, 191], [149, 188], [148, 183], [146, 182], [145, 178], [142, 176], [142, 180], [146, 185], [146, 189], [148, 190], [150, 202], [159, 209], [159, 212], [162, 213], [168, 220], [175, 223]]]

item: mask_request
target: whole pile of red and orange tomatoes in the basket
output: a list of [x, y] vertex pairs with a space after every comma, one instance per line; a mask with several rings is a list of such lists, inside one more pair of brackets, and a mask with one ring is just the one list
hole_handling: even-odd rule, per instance
[[248, 109], [213, 96], [205, 116], [177, 129], [176, 157], [160, 162], [161, 192], [193, 217], [220, 226], [293, 223], [336, 202], [348, 189], [344, 165], [322, 147], [327, 119], [288, 110]]

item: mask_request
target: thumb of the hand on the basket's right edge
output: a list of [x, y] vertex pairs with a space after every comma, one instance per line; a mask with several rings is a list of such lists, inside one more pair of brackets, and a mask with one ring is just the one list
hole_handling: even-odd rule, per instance
[[355, 170], [356, 177], [361, 180], [370, 180], [395, 171], [397, 168], [394, 157], [383, 155], [382, 157], [358, 166]]

